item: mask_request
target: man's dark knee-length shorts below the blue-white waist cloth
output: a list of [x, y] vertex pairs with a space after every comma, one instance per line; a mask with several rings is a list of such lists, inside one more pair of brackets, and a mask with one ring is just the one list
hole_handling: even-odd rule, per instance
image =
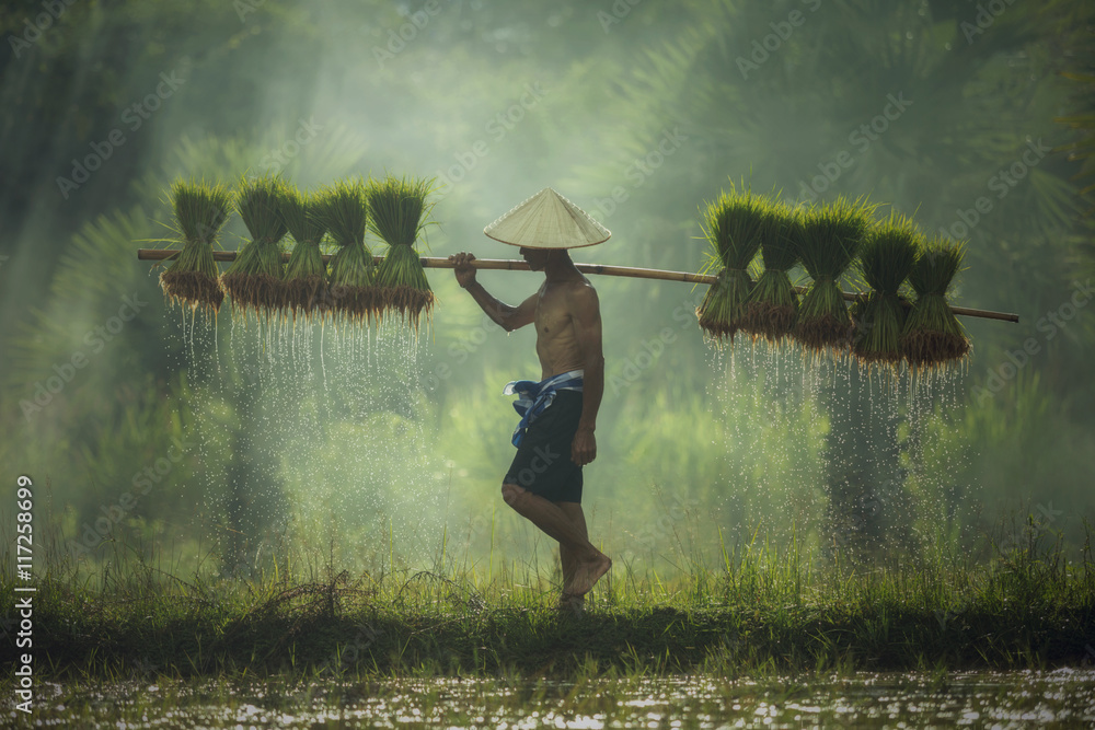
[[552, 502], [581, 501], [581, 467], [570, 461], [570, 445], [581, 418], [581, 393], [558, 391], [532, 421], [503, 484], [525, 487]]

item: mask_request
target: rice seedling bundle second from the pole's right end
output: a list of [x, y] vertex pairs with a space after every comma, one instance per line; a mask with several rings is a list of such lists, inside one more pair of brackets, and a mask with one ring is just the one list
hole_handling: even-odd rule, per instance
[[864, 239], [856, 269], [871, 291], [852, 308], [854, 351], [860, 362], [897, 368], [906, 308], [899, 290], [922, 245], [915, 223], [898, 212], [874, 225]]

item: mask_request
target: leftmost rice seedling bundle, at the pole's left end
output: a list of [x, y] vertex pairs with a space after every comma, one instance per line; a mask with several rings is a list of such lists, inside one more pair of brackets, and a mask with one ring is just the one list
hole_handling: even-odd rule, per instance
[[223, 185], [175, 181], [171, 204], [183, 243], [178, 257], [160, 274], [160, 286], [171, 302], [216, 313], [224, 301], [212, 247], [232, 210], [232, 193]]

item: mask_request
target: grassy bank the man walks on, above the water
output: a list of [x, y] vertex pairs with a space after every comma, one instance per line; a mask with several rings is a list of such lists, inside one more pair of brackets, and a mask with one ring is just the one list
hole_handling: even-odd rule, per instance
[[[618, 564], [580, 619], [554, 610], [552, 577], [497, 561], [489, 581], [451, 567], [278, 566], [227, 579], [171, 575], [139, 553], [115, 546], [94, 575], [36, 579], [39, 676], [735, 676], [1095, 661], [1090, 543], [1073, 560], [1031, 538], [981, 565], [940, 554], [872, 569], [753, 543], [672, 579]], [[5, 616], [18, 615], [11, 582]], [[10, 662], [12, 644], [3, 651]]]

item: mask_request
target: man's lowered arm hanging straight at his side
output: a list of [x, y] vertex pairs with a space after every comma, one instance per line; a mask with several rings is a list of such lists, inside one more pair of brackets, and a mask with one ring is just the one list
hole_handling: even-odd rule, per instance
[[581, 418], [570, 445], [570, 460], [585, 466], [597, 457], [597, 410], [604, 393], [604, 355], [601, 351], [601, 311], [597, 291], [590, 286], [578, 287], [570, 298], [574, 336], [581, 351]]

